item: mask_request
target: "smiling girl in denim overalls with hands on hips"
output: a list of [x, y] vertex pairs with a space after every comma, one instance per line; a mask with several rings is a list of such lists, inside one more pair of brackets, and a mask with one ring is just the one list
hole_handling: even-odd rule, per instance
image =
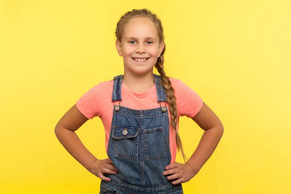
[[[209, 159], [223, 134], [218, 117], [182, 81], [163, 70], [165, 43], [161, 20], [150, 11], [132, 10], [116, 28], [116, 49], [124, 75], [85, 93], [58, 122], [55, 133], [65, 149], [101, 178], [100, 194], [182, 194]], [[161, 75], [153, 74], [156, 67]], [[178, 118], [186, 115], [205, 130], [191, 158], [175, 162], [182, 144]], [[107, 159], [93, 156], [75, 130], [101, 118]]]

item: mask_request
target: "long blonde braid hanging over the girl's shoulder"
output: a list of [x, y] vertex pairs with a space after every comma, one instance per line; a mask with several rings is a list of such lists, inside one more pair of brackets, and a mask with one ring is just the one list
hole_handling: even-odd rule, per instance
[[155, 67], [157, 68], [158, 72], [161, 74], [162, 85], [164, 86], [165, 93], [167, 95], [167, 101], [168, 101], [168, 104], [169, 104], [169, 111], [170, 111], [170, 114], [171, 114], [171, 125], [176, 131], [176, 145], [177, 145], [178, 151], [181, 150], [183, 159], [186, 162], [186, 160], [188, 160], [188, 159], [187, 159], [187, 157], [186, 157], [186, 155], [184, 153], [184, 149], [183, 149], [183, 146], [182, 146], [181, 138], [180, 138], [180, 136], [178, 134], [178, 131], [177, 131], [178, 109], [177, 109], [177, 103], [176, 103], [176, 96], [174, 94], [175, 90], [172, 87], [172, 83], [169, 80], [169, 77], [166, 76], [166, 72], [163, 69], [163, 62], [164, 62], [163, 54], [165, 52], [165, 48], [166, 48], [166, 46], [162, 50], [162, 54], [158, 58], [158, 61], [157, 61], [156, 65], [155, 65]]

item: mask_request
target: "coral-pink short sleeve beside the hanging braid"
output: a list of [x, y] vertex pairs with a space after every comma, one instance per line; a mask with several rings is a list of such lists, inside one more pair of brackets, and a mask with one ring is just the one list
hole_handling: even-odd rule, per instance
[[175, 89], [178, 116], [194, 117], [202, 108], [202, 98], [188, 85], [178, 79], [171, 79]]

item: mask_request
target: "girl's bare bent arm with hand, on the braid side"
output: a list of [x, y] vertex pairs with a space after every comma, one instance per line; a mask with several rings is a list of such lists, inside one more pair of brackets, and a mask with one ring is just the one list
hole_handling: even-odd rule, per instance
[[169, 180], [177, 179], [173, 184], [187, 182], [199, 172], [214, 152], [224, 132], [221, 121], [205, 103], [192, 119], [205, 131], [196, 150], [186, 163], [175, 162], [166, 166], [163, 175], [171, 175], [167, 177]]

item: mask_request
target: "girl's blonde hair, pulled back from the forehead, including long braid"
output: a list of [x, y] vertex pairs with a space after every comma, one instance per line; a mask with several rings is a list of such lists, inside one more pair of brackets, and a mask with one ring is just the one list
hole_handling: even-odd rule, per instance
[[[163, 28], [162, 28], [162, 22], [157, 16], [153, 13], [151, 13], [147, 9], [140, 9], [127, 12], [125, 15], [121, 16], [120, 20], [117, 23], [115, 35], [116, 38], [121, 42], [122, 39], [122, 32], [126, 26], [126, 24], [130, 21], [130, 19], [136, 18], [136, 17], [147, 17], [152, 20], [152, 22], [156, 25], [159, 35], [160, 43], [164, 40], [163, 36]], [[179, 137], [178, 131], [177, 131], [177, 122], [178, 122], [178, 110], [177, 110], [177, 103], [176, 103], [176, 97], [174, 94], [174, 88], [172, 87], [172, 83], [169, 80], [169, 78], [166, 76], [166, 73], [163, 69], [163, 62], [164, 57], [163, 54], [165, 53], [166, 46], [163, 48], [161, 56], [158, 58], [157, 63], [155, 67], [157, 68], [158, 72], [161, 74], [162, 79], [162, 85], [165, 88], [165, 93], [167, 95], [167, 102], [169, 104], [169, 111], [171, 114], [171, 125], [176, 131], [176, 144], [178, 151], [181, 150], [182, 156], [184, 161], [186, 162], [185, 158], [187, 159], [186, 155], [184, 154], [183, 146], [181, 139]]]

